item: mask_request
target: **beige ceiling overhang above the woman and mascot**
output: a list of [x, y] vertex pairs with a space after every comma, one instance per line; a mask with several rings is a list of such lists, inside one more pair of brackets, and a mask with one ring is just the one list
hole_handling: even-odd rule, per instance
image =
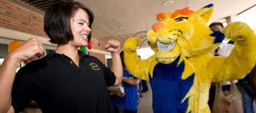
[[[20, 0], [37, 7], [42, 12], [48, 5], [59, 0]], [[80, 1], [94, 12], [92, 36], [106, 41], [118, 39], [124, 42], [139, 31], [148, 31], [156, 23], [159, 12], [170, 12], [183, 7], [197, 10], [207, 4], [214, 4], [214, 14], [210, 22], [236, 15], [256, 4], [256, 0], [173, 0], [173, 4], [163, 6], [167, 0], [75, 0]], [[124, 26], [124, 28], [119, 28]], [[142, 36], [145, 34], [142, 34]]]

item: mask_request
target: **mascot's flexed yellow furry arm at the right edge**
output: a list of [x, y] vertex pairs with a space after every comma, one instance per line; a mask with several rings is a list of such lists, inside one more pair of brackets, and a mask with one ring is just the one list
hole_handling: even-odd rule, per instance
[[242, 79], [255, 66], [256, 37], [246, 23], [230, 23], [222, 31], [235, 47], [228, 57], [214, 57], [208, 63], [214, 68], [212, 82]]

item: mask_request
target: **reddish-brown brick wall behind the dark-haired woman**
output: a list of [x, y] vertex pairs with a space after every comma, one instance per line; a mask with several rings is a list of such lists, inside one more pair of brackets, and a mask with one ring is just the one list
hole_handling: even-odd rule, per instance
[[[37, 12], [32, 12], [25, 7], [20, 7], [17, 4], [13, 4], [6, 0], [0, 0], [0, 28], [48, 38], [43, 31], [43, 15], [40, 15]], [[102, 42], [97, 38], [92, 38], [91, 41], [93, 42], [94, 49], [105, 51]], [[91, 52], [91, 55], [94, 55], [99, 58], [100, 61], [105, 63], [104, 54]]]

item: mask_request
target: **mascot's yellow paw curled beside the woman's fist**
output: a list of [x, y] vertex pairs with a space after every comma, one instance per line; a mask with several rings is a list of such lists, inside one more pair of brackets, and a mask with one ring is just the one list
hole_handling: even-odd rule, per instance
[[124, 50], [137, 50], [140, 40], [140, 38], [130, 37], [124, 42]]

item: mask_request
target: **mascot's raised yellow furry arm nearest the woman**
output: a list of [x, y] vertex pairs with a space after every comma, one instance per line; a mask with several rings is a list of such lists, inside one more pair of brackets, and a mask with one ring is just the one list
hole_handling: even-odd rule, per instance
[[151, 65], [155, 58], [151, 56], [146, 60], [140, 60], [136, 52], [138, 44], [140, 44], [140, 39], [135, 37], [131, 37], [124, 42], [124, 63], [130, 74], [148, 80], [148, 74], [154, 68]]

